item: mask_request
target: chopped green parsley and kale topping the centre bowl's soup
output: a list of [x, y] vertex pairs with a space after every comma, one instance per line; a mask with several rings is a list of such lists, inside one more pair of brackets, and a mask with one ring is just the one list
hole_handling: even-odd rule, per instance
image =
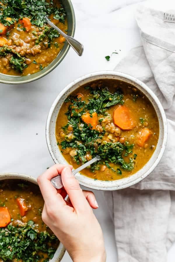
[[[126, 162], [123, 157], [132, 153], [134, 144], [129, 144], [127, 141], [125, 144], [121, 144], [120, 142], [105, 143], [102, 138], [106, 131], [102, 129], [99, 132], [98, 129], [92, 129], [91, 125], [83, 122], [81, 118], [85, 112], [88, 112], [90, 117], [92, 117], [94, 112], [97, 112], [99, 116], [102, 116], [99, 119], [99, 125], [102, 127], [102, 121], [106, 116], [106, 109], [119, 103], [123, 104], [123, 94], [117, 89], [114, 93], [110, 93], [107, 87], [95, 89], [85, 87], [85, 89], [90, 89], [88, 101], [81, 100], [77, 95], [69, 96], [64, 101], [65, 103], [70, 103], [70, 105], [66, 112], [67, 124], [62, 127], [65, 133], [64, 139], [60, 142], [62, 150], [72, 148], [74, 150], [73, 158], [77, 164], [87, 162], [87, 154], [92, 157], [99, 155], [101, 161], [91, 165], [92, 172], [99, 170], [100, 164], [103, 162], [105, 162], [108, 168], [111, 168], [111, 170], [119, 175], [121, 175], [122, 171], [120, 169], [113, 169], [110, 163], [118, 164], [122, 169], [131, 171], [134, 168], [133, 159], [130, 157], [129, 161]], [[73, 129], [72, 132], [68, 130], [69, 125]], [[96, 147], [94, 143], [97, 145]]]

